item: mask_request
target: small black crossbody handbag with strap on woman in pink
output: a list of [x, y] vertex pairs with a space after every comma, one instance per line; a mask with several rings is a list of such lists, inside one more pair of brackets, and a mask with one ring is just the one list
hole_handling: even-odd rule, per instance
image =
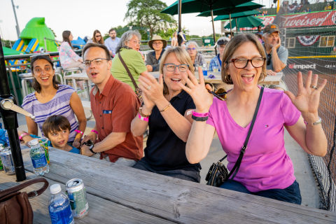
[[[254, 126], [254, 123], [255, 123], [255, 118], [257, 118], [257, 115], [258, 115], [258, 111], [259, 111], [260, 102], [261, 102], [261, 99], [262, 99], [263, 92], [264, 92], [264, 87], [261, 87], [257, 108], [255, 109], [250, 129], [248, 130], [248, 134], [247, 134], [244, 146], [241, 148], [240, 155], [239, 155], [239, 158], [238, 158], [237, 162], [235, 163], [235, 166], [232, 168], [232, 170], [229, 174], [228, 169], [226, 169], [225, 165], [222, 164], [222, 161], [225, 160], [225, 158], [227, 158], [228, 155], [225, 155], [225, 157], [223, 157], [217, 163], [213, 163], [211, 165], [210, 169], [209, 169], [209, 172], [208, 172], [207, 176], [205, 177], [205, 180], [207, 181], [207, 185], [214, 186], [214, 187], [219, 187], [225, 181], [232, 181], [235, 178], [235, 176], [236, 176], [236, 174], [239, 170], [241, 160], [243, 160], [243, 156], [244, 156], [244, 153], [245, 153], [246, 148], [247, 148], [248, 139], [250, 139], [251, 132], [253, 130], [253, 126]], [[231, 179], [230, 179], [230, 176], [232, 176]]]

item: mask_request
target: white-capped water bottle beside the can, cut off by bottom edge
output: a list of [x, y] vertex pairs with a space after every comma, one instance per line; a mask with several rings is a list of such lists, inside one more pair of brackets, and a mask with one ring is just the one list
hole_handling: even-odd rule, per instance
[[48, 202], [48, 210], [52, 224], [73, 224], [73, 216], [69, 197], [61, 192], [61, 186], [56, 183], [50, 186], [52, 194]]

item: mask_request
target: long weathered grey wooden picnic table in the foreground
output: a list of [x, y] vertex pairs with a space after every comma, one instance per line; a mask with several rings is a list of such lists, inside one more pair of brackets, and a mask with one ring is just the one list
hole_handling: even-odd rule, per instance
[[[29, 148], [22, 149], [27, 179], [34, 179]], [[209, 167], [204, 167], [208, 169]], [[160, 174], [123, 167], [50, 148], [50, 186], [83, 180], [89, 213], [76, 223], [335, 223], [336, 214], [297, 204], [215, 188]], [[0, 190], [16, 186], [0, 172]], [[25, 190], [37, 190], [31, 186]], [[31, 200], [34, 223], [50, 223], [49, 188]]]

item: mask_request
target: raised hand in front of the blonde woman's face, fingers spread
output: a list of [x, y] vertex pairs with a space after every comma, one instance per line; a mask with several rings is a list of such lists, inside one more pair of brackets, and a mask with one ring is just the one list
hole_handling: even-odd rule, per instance
[[[186, 73], [188, 73], [190, 79]], [[200, 76], [200, 83], [198, 83], [197, 78], [195, 78], [193, 73], [187, 70], [187, 72], [181, 72], [181, 75], [186, 81], [188, 87], [183, 85], [181, 82], [177, 83], [177, 85], [179, 85], [179, 87], [181, 87], [184, 91], [188, 92], [190, 97], [193, 98], [197, 112], [207, 113], [212, 105], [214, 96], [207, 91], [207, 88], [211, 90], [211, 87], [209, 85], [207, 85], [207, 88], [205, 87], [202, 69], [198, 69], [198, 73]]]

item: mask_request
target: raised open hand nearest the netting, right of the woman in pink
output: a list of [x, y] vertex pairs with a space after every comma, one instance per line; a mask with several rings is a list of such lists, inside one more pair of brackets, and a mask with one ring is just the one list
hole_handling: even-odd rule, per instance
[[[318, 75], [314, 75], [313, 81], [311, 82], [312, 73], [312, 71], [308, 71], [306, 87], [303, 86], [302, 73], [297, 73], [298, 92], [296, 97], [293, 93], [285, 91], [294, 106], [302, 113], [302, 116], [308, 113], [317, 115], [320, 94], [327, 83], [327, 80], [324, 79], [321, 85], [318, 86]], [[317, 89], [315, 90], [313, 87], [317, 87]]]

